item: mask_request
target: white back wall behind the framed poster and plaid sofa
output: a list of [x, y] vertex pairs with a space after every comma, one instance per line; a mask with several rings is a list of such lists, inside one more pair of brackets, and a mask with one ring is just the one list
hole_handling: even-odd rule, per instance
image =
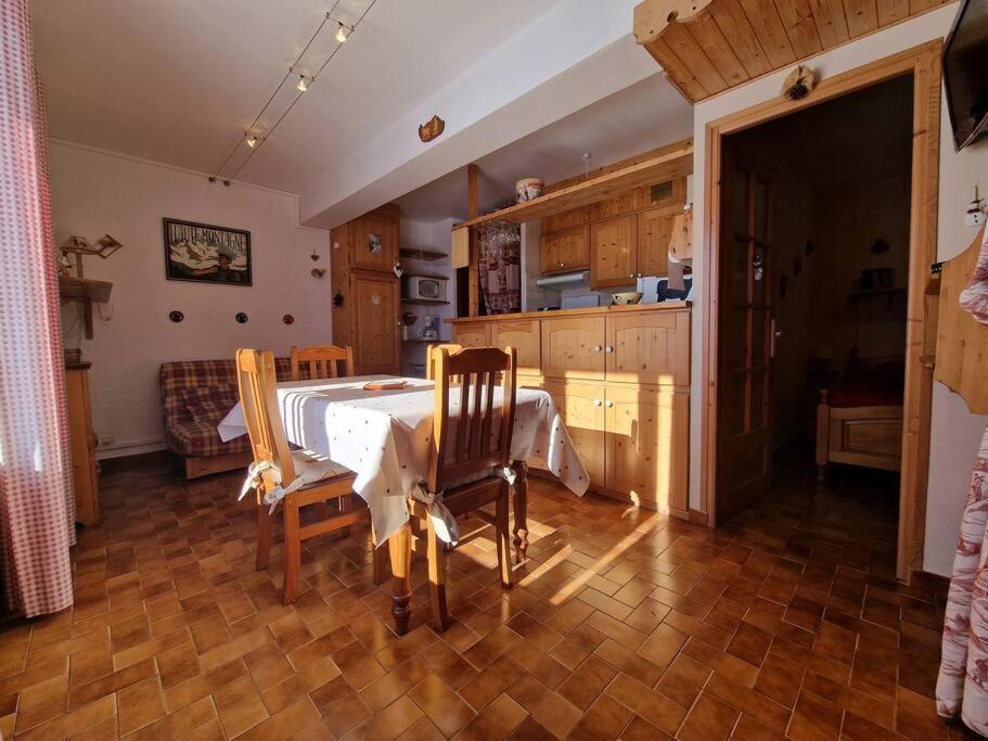
[[[78, 305], [63, 308], [66, 346], [92, 362], [93, 426], [100, 457], [164, 447], [158, 368], [169, 360], [232, 358], [238, 347], [273, 349], [332, 340], [329, 232], [298, 226], [297, 197], [205, 175], [53, 141], [55, 244], [69, 234], [112, 234], [124, 248], [86, 259], [88, 278], [113, 281], [94, 307], [92, 340], [81, 340]], [[163, 217], [251, 231], [254, 285], [165, 279]], [[312, 261], [309, 255], [321, 256]], [[319, 280], [313, 266], [326, 268]], [[181, 323], [168, 314], [185, 315]], [[249, 321], [239, 324], [244, 311]], [[291, 314], [295, 323], [282, 317]], [[102, 318], [101, 317], [105, 317]]]

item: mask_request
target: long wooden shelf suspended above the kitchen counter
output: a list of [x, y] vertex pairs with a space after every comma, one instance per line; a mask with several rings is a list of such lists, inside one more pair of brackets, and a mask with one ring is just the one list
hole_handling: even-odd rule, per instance
[[626, 191], [652, 186], [693, 173], [693, 141], [687, 140], [669, 151], [621, 169], [604, 173], [573, 186], [560, 188], [525, 203], [462, 221], [453, 229], [476, 227], [488, 221], [522, 223], [536, 221], [570, 208], [587, 206]]

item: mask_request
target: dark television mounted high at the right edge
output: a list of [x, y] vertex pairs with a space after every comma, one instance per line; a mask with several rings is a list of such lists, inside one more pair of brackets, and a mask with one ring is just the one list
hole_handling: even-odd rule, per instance
[[944, 44], [944, 87], [954, 146], [988, 137], [988, 1], [961, 3]]

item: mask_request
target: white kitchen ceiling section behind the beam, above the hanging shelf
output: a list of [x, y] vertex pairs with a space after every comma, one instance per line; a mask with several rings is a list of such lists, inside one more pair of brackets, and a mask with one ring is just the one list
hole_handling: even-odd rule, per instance
[[[602, 167], [693, 135], [693, 108], [660, 74], [625, 88], [477, 161], [480, 213], [514, 197], [515, 181], [547, 183]], [[466, 168], [397, 200], [407, 218], [432, 223], [466, 218]]]

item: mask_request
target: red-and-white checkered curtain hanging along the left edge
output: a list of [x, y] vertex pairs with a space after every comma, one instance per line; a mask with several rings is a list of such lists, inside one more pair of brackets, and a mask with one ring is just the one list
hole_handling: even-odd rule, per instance
[[48, 142], [27, 0], [0, 0], [0, 578], [27, 616], [72, 605], [75, 501]]

